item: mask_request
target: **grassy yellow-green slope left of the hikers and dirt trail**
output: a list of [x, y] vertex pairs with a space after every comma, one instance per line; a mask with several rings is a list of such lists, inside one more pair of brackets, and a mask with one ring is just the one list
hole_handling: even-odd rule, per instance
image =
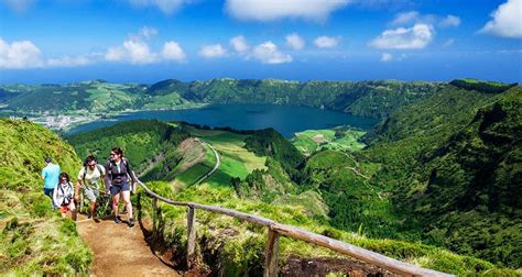
[[53, 211], [41, 171], [51, 157], [75, 175], [81, 165], [73, 147], [51, 131], [0, 119], [0, 274], [87, 274], [91, 253], [76, 224]]

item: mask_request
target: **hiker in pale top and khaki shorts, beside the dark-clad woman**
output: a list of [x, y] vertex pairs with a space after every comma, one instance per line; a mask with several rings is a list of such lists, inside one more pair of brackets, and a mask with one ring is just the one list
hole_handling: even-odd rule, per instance
[[84, 163], [84, 167], [79, 169], [78, 178], [75, 188], [74, 200], [79, 200], [79, 189], [84, 190], [84, 196], [90, 201], [88, 219], [97, 219], [96, 217], [96, 199], [99, 197], [99, 184], [100, 179], [105, 178], [105, 168], [98, 164], [95, 156], [89, 155]]

